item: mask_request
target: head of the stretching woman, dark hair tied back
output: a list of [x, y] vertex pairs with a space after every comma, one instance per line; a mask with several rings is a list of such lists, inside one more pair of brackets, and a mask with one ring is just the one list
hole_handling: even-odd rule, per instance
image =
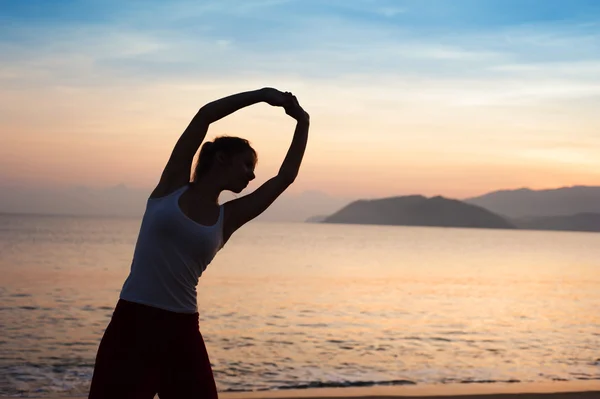
[[239, 193], [254, 179], [257, 159], [256, 151], [248, 140], [231, 136], [217, 137], [202, 145], [192, 181], [197, 181], [208, 172], [217, 173], [224, 190]]

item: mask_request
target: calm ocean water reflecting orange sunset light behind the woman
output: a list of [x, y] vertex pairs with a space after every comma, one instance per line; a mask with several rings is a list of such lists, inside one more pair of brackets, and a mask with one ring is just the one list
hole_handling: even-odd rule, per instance
[[[0, 395], [85, 395], [139, 219], [0, 215]], [[253, 222], [198, 285], [220, 391], [600, 380], [600, 234]]]

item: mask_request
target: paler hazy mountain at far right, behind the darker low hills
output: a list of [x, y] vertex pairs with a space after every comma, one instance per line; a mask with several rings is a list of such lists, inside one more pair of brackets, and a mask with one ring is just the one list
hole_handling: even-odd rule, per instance
[[600, 213], [600, 187], [495, 191], [464, 200], [509, 218]]

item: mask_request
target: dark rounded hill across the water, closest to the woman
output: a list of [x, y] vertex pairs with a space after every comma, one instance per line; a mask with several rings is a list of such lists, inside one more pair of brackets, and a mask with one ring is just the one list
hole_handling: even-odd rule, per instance
[[515, 228], [504, 218], [478, 206], [439, 196], [426, 198], [421, 195], [355, 201], [328, 216], [323, 222]]

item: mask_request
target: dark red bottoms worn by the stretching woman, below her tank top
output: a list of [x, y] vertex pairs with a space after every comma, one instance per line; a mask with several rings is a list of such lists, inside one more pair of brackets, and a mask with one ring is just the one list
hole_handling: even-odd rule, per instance
[[89, 399], [217, 399], [198, 326], [181, 314], [119, 300], [104, 332]]

